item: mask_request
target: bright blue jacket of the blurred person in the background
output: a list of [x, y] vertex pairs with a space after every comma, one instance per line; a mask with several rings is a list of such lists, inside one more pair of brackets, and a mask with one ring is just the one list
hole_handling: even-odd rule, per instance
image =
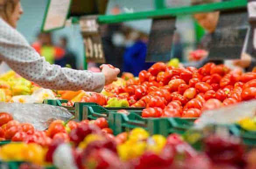
[[123, 55], [123, 71], [130, 72], [135, 77], [140, 71], [147, 70], [154, 63], [146, 63], [147, 44], [137, 41], [133, 46], [128, 47]]

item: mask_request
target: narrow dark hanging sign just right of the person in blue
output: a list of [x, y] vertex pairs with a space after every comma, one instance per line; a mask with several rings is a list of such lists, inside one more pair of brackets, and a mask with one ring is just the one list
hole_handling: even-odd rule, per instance
[[175, 21], [175, 17], [153, 19], [147, 46], [147, 62], [170, 60]]

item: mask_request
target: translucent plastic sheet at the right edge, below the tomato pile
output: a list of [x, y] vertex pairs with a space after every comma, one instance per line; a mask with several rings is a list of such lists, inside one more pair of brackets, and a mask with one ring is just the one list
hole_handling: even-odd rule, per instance
[[256, 113], [256, 100], [203, 112], [196, 122], [195, 129], [202, 129], [207, 125], [234, 124], [243, 118], [252, 118]]

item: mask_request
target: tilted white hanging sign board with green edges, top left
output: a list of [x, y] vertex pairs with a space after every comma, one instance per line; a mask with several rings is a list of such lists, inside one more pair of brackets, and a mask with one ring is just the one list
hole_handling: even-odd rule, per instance
[[48, 0], [42, 31], [51, 31], [65, 26], [72, 0]]

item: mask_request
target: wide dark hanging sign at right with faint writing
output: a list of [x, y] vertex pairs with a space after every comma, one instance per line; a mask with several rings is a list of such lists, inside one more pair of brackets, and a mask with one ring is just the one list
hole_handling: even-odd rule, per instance
[[210, 60], [239, 59], [249, 28], [246, 10], [221, 11], [210, 42]]

